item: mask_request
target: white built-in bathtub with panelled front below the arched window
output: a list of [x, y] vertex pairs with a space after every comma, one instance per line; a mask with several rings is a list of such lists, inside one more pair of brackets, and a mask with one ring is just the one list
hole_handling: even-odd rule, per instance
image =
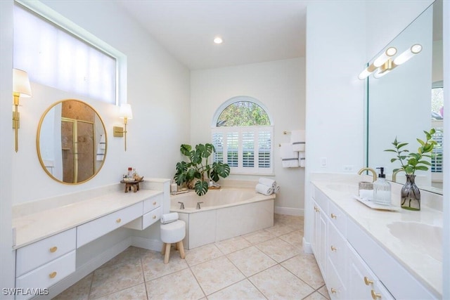
[[[274, 226], [275, 194], [262, 195], [253, 188], [208, 190], [201, 197], [190, 191], [170, 198], [170, 211], [186, 222], [186, 249]], [[198, 202], [203, 202], [200, 209]]]

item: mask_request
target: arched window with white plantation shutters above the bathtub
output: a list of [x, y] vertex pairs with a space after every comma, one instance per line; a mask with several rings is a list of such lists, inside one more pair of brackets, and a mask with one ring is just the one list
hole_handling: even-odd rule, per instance
[[233, 174], [271, 174], [273, 132], [271, 117], [257, 99], [227, 100], [212, 118], [214, 162], [229, 164]]

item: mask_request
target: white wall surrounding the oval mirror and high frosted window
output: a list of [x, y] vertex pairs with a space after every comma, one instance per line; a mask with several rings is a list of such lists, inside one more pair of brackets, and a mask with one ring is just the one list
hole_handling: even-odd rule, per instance
[[[179, 144], [188, 141], [189, 70], [170, 56], [140, 25], [113, 1], [44, 1], [53, 10], [95, 34], [127, 56], [127, 98], [134, 119], [124, 138], [113, 137], [113, 126], [123, 126], [115, 105], [54, 91], [50, 95], [33, 85], [33, 97], [20, 107], [20, 150], [13, 155], [13, 203], [74, 193], [120, 181], [127, 167], [150, 177], [172, 177], [179, 159]], [[46, 176], [36, 152], [39, 118], [51, 103], [77, 98], [97, 110], [105, 123], [108, 150], [105, 164], [91, 181], [63, 185]], [[25, 170], [25, 171], [24, 171]], [[27, 182], [27, 189], [22, 188]], [[33, 190], [33, 193], [29, 193]]]

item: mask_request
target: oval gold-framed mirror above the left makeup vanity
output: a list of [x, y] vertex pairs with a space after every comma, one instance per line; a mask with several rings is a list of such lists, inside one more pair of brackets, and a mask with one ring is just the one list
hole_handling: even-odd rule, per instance
[[105, 125], [96, 110], [80, 100], [61, 100], [42, 115], [37, 155], [42, 168], [61, 183], [89, 181], [106, 156]]

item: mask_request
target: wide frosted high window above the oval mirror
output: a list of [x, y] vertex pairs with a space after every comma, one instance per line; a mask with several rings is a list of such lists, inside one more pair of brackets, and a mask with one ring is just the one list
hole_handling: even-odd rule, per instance
[[31, 81], [107, 103], [126, 102], [126, 89], [120, 89], [126, 85], [126, 56], [39, 1], [15, 1], [13, 45], [13, 67]]

